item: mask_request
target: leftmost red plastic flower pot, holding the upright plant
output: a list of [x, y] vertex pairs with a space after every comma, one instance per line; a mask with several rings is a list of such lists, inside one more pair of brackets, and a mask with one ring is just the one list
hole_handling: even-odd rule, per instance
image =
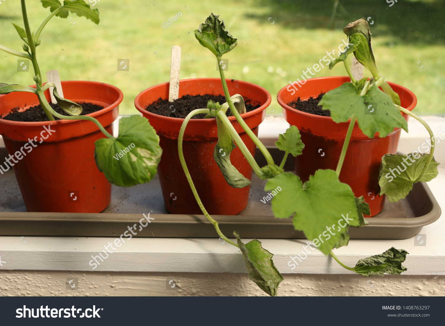
[[[117, 87], [91, 81], [62, 81], [62, 88], [66, 99], [103, 106], [104, 109], [89, 116], [113, 133], [112, 123], [123, 99]], [[45, 95], [49, 99], [48, 90]], [[26, 110], [37, 104], [38, 99], [32, 93], [1, 95], [0, 114], [14, 107]], [[105, 135], [94, 123], [0, 119], [0, 128], [9, 157], [14, 155], [17, 161], [9, 159], [28, 212], [98, 213], [109, 205], [111, 184], [94, 160], [94, 142]], [[4, 170], [10, 168], [7, 162], [2, 163]]]

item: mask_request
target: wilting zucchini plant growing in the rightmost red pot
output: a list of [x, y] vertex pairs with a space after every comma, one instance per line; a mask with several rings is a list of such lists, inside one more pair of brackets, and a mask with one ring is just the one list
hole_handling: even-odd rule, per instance
[[[431, 151], [429, 154], [413, 151], [407, 155], [386, 154], [382, 157], [379, 173], [380, 195], [385, 194], [389, 201], [397, 202], [409, 194], [414, 183], [431, 181], [437, 176], [439, 163], [433, 157], [435, 147], [433, 131], [423, 119], [400, 106], [399, 95], [392, 90], [384, 77], [380, 76], [372, 52], [368, 22], [364, 18], [356, 20], [344, 28], [344, 33], [348, 36], [349, 42], [354, 45], [345, 49], [337, 60], [331, 62], [329, 69], [343, 61], [351, 82], [329, 91], [319, 103], [324, 110], [331, 110], [331, 117], [336, 123], [351, 119], [346, 135], [347, 139], [345, 139], [337, 167], [338, 174], [356, 120], [361, 131], [369, 138], [374, 138], [376, 132], [379, 133], [379, 137], [386, 137], [394, 128], [403, 128], [408, 132], [408, 123], [400, 113], [403, 112], [419, 121], [430, 135]], [[345, 60], [352, 52], [356, 59], [371, 72], [371, 79], [355, 80], [351, 75]], [[381, 87], [383, 91], [378, 87]], [[379, 109], [375, 115], [364, 114], [368, 103], [375, 103], [378, 106]], [[405, 167], [405, 170], [402, 170], [400, 166]], [[397, 170], [398, 175], [393, 173], [394, 170]]]

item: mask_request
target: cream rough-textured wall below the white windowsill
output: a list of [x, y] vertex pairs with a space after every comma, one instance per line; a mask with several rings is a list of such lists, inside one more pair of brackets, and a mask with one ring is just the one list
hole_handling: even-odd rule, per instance
[[[167, 277], [178, 282], [166, 290]], [[78, 278], [78, 290], [66, 279]], [[369, 282], [368, 282], [369, 280]], [[368, 282], [368, 283], [367, 283]], [[280, 296], [444, 296], [445, 276], [287, 274]], [[0, 271], [1, 296], [256, 296], [264, 294], [247, 274]]]

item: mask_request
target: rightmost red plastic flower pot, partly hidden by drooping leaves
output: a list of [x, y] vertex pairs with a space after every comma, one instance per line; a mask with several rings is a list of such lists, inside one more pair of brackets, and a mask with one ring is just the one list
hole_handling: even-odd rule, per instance
[[[309, 179], [318, 169], [332, 169], [337, 167], [343, 147], [349, 122], [335, 123], [331, 117], [305, 113], [287, 105], [300, 97], [306, 100], [317, 97], [322, 92], [328, 92], [343, 83], [349, 82], [349, 77], [321, 77], [307, 80], [295, 91], [291, 85], [283, 87], [278, 92], [278, 103], [283, 107], [284, 119], [291, 125], [298, 127], [301, 140], [305, 147], [303, 154], [295, 158], [295, 173], [303, 182]], [[407, 88], [389, 83], [399, 94], [401, 106], [409, 111], [417, 104], [417, 98]], [[292, 91], [294, 90], [294, 91]], [[403, 114], [408, 121], [409, 115]], [[362, 133], [356, 122], [352, 131], [351, 141], [340, 172], [340, 181], [347, 183], [356, 197], [363, 196], [369, 204], [370, 216], [374, 216], [383, 209], [386, 196], [380, 196], [378, 175], [382, 156], [388, 153], [396, 154], [401, 129], [394, 129], [384, 138], [369, 139]]]

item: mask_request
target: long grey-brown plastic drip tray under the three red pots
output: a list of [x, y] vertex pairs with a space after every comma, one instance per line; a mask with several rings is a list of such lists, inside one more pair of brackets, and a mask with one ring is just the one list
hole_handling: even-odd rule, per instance
[[[282, 152], [269, 148], [275, 161]], [[1, 150], [0, 150], [1, 151]], [[0, 153], [3, 154], [3, 153]], [[0, 157], [2, 157], [0, 155]], [[265, 165], [261, 153], [255, 156]], [[285, 170], [293, 170], [293, 160], [287, 159]], [[276, 219], [271, 203], [260, 199], [266, 194], [266, 181], [253, 175], [249, 203], [239, 215], [213, 215], [221, 231], [232, 237], [238, 231], [243, 238], [304, 239], [295, 231], [292, 220]], [[163, 203], [158, 176], [150, 183], [131, 188], [112, 188], [109, 207], [100, 214], [85, 213], [28, 213], [20, 195], [13, 171], [0, 175], [0, 235], [15, 236], [120, 236], [151, 211], [154, 218], [135, 237], [216, 238], [213, 225], [204, 215], [169, 214]], [[422, 227], [433, 223], [441, 208], [426, 183], [416, 183], [406, 199], [385, 203], [380, 214], [368, 218], [369, 225], [349, 228], [351, 239], [408, 239]]]

